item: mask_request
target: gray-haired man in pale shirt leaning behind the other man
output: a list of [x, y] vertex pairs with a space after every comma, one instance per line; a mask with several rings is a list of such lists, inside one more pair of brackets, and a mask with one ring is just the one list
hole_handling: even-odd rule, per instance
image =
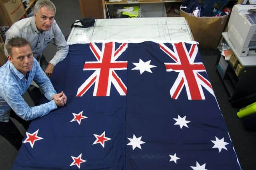
[[[34, 6], [34, 16], [14, 23], [7, 31], [5, 41], [5, 44], [8, 44], [8, 41], [13, 37], [22, 37], [28, 40], [34, 57], [40, 62], [48, 77], [52, 75], [54, 66], [65, 59], [68, 54], [68, 44], [54, 20], [55, 13], [55, 5], [50, 0], [38, 0]], [[57, 46], [57, 52], [47, 63], [42, 51], [52, 40]], [[8, 56], [6, 47], [4, 51], [5, 55]]]

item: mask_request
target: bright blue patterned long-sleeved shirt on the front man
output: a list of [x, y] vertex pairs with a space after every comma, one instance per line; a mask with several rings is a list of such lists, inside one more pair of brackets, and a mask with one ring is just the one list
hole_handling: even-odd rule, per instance
[[[9, 61], [0, 67], [0, 121], [8, 122], [10, 109], [13, 109], [22, 119], [32, 120], [58, 108], [54, 100], [51, 99], [52, 95], [56, 94], [56, 91], [50, 79], [46, 76], [36, 59], [33, 59], [33, 67], [27, 79]], [[32, 80], [38, 84], [44, 96], [50, 102], [40, 106], [28, 106], [22, 95], [30, 86]]]

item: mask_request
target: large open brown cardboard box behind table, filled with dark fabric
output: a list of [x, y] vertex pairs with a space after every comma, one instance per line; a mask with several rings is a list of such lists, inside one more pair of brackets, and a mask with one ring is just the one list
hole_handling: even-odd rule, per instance
[[180, 16], [185, 17], [199, 48], [214, 49], [218, 46], [228, 15], [221, 17], [196, 17], [180, 9]]

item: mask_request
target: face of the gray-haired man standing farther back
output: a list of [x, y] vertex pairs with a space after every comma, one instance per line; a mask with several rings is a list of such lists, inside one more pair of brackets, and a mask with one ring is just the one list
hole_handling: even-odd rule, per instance
[[34, 17], [38, 31], [48, 31], [54, 21], [54, 10], [42, 7], [38, 10], [38, 14], [34, 13]]

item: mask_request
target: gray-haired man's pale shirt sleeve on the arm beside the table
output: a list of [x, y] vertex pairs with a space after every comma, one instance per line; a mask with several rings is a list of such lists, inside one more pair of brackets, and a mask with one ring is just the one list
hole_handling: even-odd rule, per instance
[[68, 55], [68, 43], [65, 40], [63, 33], [60, 30], [60, 27], [54, 21], [54, 43], [57, 45], [57, 52], [49, 62], [54, 66], [58, 64], [60, 61], [64, 60]]

